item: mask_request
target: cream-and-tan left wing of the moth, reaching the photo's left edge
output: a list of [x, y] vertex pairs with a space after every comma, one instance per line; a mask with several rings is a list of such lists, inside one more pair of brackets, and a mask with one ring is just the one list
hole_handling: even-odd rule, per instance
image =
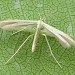
[[30, 25], [37, 24], [37, 21], [35, 20], [4, 20], [0, 21], [0, 28], [11, 30], [21, 27], [26, 27]]

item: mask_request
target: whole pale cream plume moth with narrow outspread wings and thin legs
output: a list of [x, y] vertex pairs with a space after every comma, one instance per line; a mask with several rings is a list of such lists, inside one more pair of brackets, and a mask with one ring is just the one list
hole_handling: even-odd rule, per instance
[[[46, 35], [55, 37], [57, 40], [59, 40], [61, 45], [65, 48], [75, 46], [75, 41], [70, 36], [68, 36], [64, 32], [44, 23], [41, 19], [40, 20], [4, 20], [4, 21], [0, 21], [0, 28], [5, 29], [5, 30], [20, 29], [19, 31], [13, 33], [13, 35], [20, 31], [23, 31], [23, 30], [29, 31], [29, 32], [34, 32], [35, 35], [34, 35], [34, 40], [33, 40], [33, 44], [32, 44], [32, 52], [35, 51], [35, 47], [36, 47], [36, 43], [38, 41], [39, 34], [44, 35], [45, 39], [47, 41], [50, 53], [60, 67], [61, 67], [61, 65], [59, 64], [59, 62], [53, 55]], [[12, 55], [12, 57], [10, 59], [12, 59], [15, 56], [15, 54], [18, 53], [18, 51], [21, 49], [21, 47], [25, 44], [25, 42], [31, 36], [33, 36], [33, 34], [29, 35], [27, 37], [27, 39], [25, 39], [25, 41], [20, 45], [20, 47], [17, 49], [17, 51]], [[9, 60], [5, 64], [7, 64], [9, 62]]]

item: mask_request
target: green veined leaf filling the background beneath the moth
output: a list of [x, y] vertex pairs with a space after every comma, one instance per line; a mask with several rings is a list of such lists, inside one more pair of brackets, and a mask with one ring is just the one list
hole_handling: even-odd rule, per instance
[[[0, 19], [39, 20], [75, 37], [75, 0], [0, 0]], [[14, 54], [22, 42], [31, 34], [0, 30], [0, 75], [75, 75], [75, 48], [63, 48], [52, 37], [48, 37], [52, 51], [60, 62], [58, 66], [43, 36], [39, 37], [34, 53], [31, 52], [33, 37], [8, 64], [4, 63]]]

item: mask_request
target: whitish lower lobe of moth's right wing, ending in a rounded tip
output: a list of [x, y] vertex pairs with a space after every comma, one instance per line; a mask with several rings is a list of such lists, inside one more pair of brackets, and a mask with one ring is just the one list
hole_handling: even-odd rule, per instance
[[51, 34], [53, 34], [54, 37], [59, 40], [59, 42], [61, 43], [62, 46], [71, 47], [71, 45], [62, 36], [60, 36], [57, 32], [55, 32], [53, 30], [53, 28], [51, 28], [49, 25], [47, 25], [46, 23], [42, 22], [42, 26], [44, 28], [46, 28]]

